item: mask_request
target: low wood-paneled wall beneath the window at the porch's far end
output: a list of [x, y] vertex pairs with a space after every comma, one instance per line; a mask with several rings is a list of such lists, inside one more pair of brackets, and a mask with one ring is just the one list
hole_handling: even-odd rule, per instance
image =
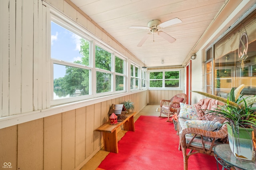
[[178, 93], [184, 92], [182, 90], [149, 90], [149, 104], [159, 104], [160, 100], [169, 100]]

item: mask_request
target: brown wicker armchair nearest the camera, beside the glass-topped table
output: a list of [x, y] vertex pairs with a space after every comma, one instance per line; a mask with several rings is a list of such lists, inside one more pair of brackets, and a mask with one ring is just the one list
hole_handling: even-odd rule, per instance
[[[180, 109], [178, 109], [179, 114]], [[180, 118], [179, 118], [180, 119]], [[222, 125], [218, 131], [202, 130], [200, 128], [183, 128], [178, 121], [178, 134], [180, 136], [179, 150], [182, 150], [184, 170], [188, 170], [189, 156], [197, 153], [214, 156], [214, 146], [227, 141], [228, 129], [226, 124]], [[194, 134], [194, 136], [185, 136]], [[200, 136], [198, 138], [198, 136]], [[187, 149], [190, 151], [187, 153]]]

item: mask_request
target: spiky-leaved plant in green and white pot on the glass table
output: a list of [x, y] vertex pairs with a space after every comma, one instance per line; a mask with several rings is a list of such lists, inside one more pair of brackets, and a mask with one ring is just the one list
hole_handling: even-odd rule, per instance
[[256, 128], [256, 107], [252, 107], [252, 105], [256, 103], [256, 96], [243, 97], [240, 94], [243, 88], [244, 85], [240, 85], [236, 89], [233, 87], [227, 99], [200, 91], [193, 92], [224, 103], [224, 105], [217, 105], [214, 111], [208, 111], [208, 113], [216, 115], [217, 118], [226, 119], [228, 140], [234, 156], [252, 160], [253, 127]]

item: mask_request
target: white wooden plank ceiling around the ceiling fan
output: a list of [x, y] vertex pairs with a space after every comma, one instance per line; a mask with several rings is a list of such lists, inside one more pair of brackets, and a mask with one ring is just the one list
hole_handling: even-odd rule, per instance
[[[182, 65], [201, 36], [212, 24], [228, 0], [70, 0], [94, 22], [114, 37], [147, 67]], [[234, 3], [238, 3], [235, 0]], [[240, 0], [241, 1], [241, 0]], [[240, 3], [240, 2], [239, 2]], [[137, 47], [149, 30], [129, 29], [147, 26], [150, 20], [165, 22], [180, 18], [182, 23], [161, 31], [174, 37], [169, 43], [151, 35]], [[164, 60], [164, 64], [161, 61]]]

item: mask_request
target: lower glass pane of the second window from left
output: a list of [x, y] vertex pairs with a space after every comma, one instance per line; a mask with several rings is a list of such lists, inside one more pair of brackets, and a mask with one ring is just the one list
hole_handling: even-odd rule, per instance
[[96, 72], [96, 93], [111, 91], [111, 76], [110, 73]]

